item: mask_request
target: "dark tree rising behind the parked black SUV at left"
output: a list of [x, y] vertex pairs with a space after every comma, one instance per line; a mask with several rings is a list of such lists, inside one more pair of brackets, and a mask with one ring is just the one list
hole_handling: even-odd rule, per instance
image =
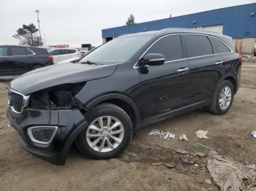
[[22, 28], [18, 28], [17, 34], [13, 35], [15, 39], [20, 40], [21, 44], [27, 44], [33, 47], [42, 46], [42, 41], [37, 35], [38, 29], [33, 23], [28, 26], [23, 25]]

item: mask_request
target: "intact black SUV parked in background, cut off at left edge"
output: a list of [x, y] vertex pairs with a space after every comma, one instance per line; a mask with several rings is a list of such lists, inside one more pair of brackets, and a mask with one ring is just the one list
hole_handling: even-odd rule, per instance
[[45, 48], [0, 46], [0, 76], [24, 74], [52, 64], [53, 57]]

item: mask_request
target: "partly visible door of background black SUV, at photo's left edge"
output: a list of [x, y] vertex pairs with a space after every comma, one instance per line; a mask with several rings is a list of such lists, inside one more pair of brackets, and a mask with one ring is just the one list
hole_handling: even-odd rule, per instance
[[0, 47], [0, 75], [8, 74], [10, 70], [10, 58], [8, 57], [8, 47]]

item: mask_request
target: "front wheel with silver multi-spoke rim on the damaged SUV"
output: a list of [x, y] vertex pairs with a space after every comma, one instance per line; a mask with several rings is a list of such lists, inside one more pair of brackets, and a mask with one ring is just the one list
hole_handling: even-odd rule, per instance
[[[105, 130], [100, 128], [99, 117], [102, 117], [102, 127], [105, 128]], [[111, 122], [110, 125], [108, 125], [108, 121]], [[113, 124], [119, 124], [118, 122], [120, 122], [121, 125], [117, 128], [113, 128]], [[130, 139], [132, 139], [133, 128], [129, 115], [119, 106], [114, 104], [101, 104], [96, 106], [89, 114], [88, 123], [89, 126], [83, 130], [75, 140], [78, 150], [85, 157], [94, 159], [118, 157], [118, 155], [120, 155], [127, 147]], [[97, 130], [95, 130], [95, 126]], [[123, 129], [123, 131], [120, 134], [108, 136], [108, 133], [110, 132], [110, 128], [108, 129], [108, 127], [113, 128], [112, 133], [118, 132], [118, 130], [121, 131], [121, 129]], [[91, 135], [96, 135], [97, 137], [89, 137]], [[113, 139], [113, 136], [118, 137], [119, 144], [118, 141]], [[103, 147], [101, 147], [103, 140], [105, 140], [105, 143]], [[94, 141], [98, 141], [95, 147], [92, 146], [94, 145]], [[110, 148], [110, 145], [114, 147]]]

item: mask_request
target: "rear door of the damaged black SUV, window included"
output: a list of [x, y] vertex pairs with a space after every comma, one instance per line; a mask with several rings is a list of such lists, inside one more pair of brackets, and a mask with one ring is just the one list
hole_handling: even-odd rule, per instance
[[187, 58], [191, 67], [191, 95], [189, 104], [209, 101], [222, 73], [222, 55], [214, 55], [208, 36], [184, 34]]

